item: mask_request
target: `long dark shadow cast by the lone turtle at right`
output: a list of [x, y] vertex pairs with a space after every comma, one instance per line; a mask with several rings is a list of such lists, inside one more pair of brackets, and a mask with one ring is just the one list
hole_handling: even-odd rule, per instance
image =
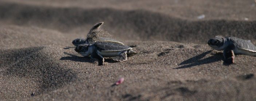
[[[185, 69], [185, 68], [202, 65], [202, 64], [207, 64], [207, 63], [212, 63], [212, 62], [216, 62], [216, 61], [220, 61], [220, 60], [224, 59], [222, 52], [215, 53], [215, 54], [213, 54], [213, 56], [204, 58], [210, 52], [212, 52], [212, 50], [201, 53], [195, 57], [189, 58], [188, 60], [185, 60], [179, 64], [179, 66], [180, 65], [184, 65], [184, 66], [176, 67], [174, 69]], [[202, 59], [202, 58], [204, 58], [204, 59]], [[225, 63], [224, 63], [224, 65], [225, 65]]]

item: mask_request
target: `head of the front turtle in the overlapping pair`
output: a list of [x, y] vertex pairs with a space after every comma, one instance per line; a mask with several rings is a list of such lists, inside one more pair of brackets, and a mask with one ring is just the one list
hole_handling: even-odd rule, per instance
[[90, 50], [89, 50], [90, 44], [80, 44], [75, 48], [75, 51], [81, 54], [82, 56], [90, 56]]

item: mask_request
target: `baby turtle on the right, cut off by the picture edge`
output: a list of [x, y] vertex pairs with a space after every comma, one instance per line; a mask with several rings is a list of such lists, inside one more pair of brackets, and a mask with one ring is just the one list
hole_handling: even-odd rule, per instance
[[244, 54], [256, 57], [256, 47], [251, 41], [236, 38], [215, 36], [208, 41], [208, 45], [215, 50], [223, 51], [226, 63], [235, 63], [235, 54]]

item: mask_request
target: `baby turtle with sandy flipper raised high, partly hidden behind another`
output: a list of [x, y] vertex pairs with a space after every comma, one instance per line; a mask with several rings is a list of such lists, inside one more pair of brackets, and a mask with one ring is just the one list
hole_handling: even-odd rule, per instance
[[101, 25], [103, 23], [104, 22], [100, 22], [100, 23], [97, 23], [96, 25], [94, 25], [91, 28], [91, 30], [89, 31], [89, 33], [87, 34], [87, 39], [78, 38], [78, 39], [73, 40], [72, 44], [74, 44], [75, 46], [78, 46], [80, 44], [93, 44], [93, 43], [95, 43], [95, 41], [105, 41], [105, 42], [117, 43], [117, 44], [124, 45], [123, 43], [121, 43], [117, 40], [111, 39], [111, 38], [98, 37], [98, 33], [100, 32], [99, 28], [101, 27]]

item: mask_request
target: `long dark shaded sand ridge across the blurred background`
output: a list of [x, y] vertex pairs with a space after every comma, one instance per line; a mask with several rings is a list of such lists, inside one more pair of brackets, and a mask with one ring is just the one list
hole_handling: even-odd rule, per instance
[[[64, 33], [84, 31], [84, 26], [104, 21], [106, 29], [118, 38], [126, 40], [128, 38], [205, 44], [208, 38], [215, 35], [237, 36], [252, 41], [256, 39], [255, 21], [190, 21], [142, 9], [61, 8], [15, 3], [1, 3], [0, 9], [1, 19], [9, 21], [8, 23], [50, 28]], [[84, 32], [83, 34], [86, 34], [88, 31]]]

